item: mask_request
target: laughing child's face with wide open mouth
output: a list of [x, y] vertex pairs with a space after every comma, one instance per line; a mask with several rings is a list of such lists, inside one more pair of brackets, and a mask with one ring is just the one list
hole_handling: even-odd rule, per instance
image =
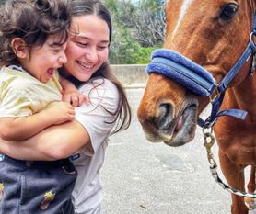
[[33, 47], [28, 56], [20, 60], [22, 67], [42, 83], [47, 83], [52, 78], [53, 71], [66, 62], [66, 43], [54, 43], [57, 41], [57, 36], [50, 36], [42, 46]]

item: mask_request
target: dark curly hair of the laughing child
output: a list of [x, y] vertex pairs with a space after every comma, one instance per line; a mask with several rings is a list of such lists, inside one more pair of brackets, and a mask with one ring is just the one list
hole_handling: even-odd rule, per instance
[[56, 43], [63, 44], [70, 25], [68, 0], [7, 0], [0, 7], [0, 64], [18, 63], [12, 39], [23, 39], [29, 50], [50, 35], [58, 35]]

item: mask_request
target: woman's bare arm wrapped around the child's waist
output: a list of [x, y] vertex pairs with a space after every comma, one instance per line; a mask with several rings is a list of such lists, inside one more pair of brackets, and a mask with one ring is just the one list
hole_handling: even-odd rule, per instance
[[52, 161], [68, 157], [90, 141], [76, 120], [42, 130], [26, 141], [0, 141], [0, 151], [28, 161]]

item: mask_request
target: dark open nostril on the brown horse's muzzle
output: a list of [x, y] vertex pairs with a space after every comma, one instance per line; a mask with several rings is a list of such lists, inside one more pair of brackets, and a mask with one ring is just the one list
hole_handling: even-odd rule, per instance
[[173, 120], [173, 107], [170, 103], [161, 103], [158, 107], [157, 127], [159, 130], [169, 130]]

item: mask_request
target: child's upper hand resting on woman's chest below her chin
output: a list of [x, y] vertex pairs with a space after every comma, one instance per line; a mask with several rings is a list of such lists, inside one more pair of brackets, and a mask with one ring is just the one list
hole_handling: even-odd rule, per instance
[[64, 93], [63, 101], [70, 103], [73, 107], [80, 107], [83, 103], [88, 103], [89, 99], [78, 91], [69, 91]]

